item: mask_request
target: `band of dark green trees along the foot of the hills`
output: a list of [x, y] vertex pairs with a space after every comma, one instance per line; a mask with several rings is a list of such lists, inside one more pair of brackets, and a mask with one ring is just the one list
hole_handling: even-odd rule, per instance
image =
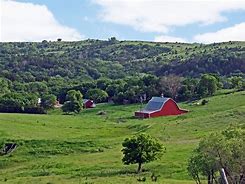
[[[142, 99], [148, 101], [152, 96], [163, 94], [176, 101], [192, 101], [211, 96], [217, 89], [245, 89], [243, 77], [223, 78], [215, 74], [204, 74], [200, 78], [184, 78], [176, 75], [156, 77], [145, 74], [116, 80], [99, 78], [71, 86], [69, 84], [67, 86], [62, 79], [51, 79], [51, 81], [50, 84], [47, 82], [22, 84], [0, 78], [2, 86], [0, 89], [0, 111], [45, 113], [58, 101], [65, 107], [70, 105], [70, 109], [80, 112], [83, 98], [92, 99], [95, 103], [109, 101], [115, 104], [130, 104], [139, 103]], [[71, 97], [74, 95], [77, 95], [77, 100], [74, 100], [75, 97]], [[41, 101], [38, 102], [38, 99]], [[76, 108], [71, 108], [71, 105]], [[35, 110], [28, 110], [31, 108]], [[68, 110], [65, 111], [68, 112]]]

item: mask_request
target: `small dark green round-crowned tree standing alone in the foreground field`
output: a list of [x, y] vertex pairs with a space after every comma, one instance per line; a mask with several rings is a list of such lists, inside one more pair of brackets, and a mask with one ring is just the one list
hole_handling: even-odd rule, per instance
[[138, 164], [137, 172], [139, 173], [143, 163], [157, 160], [161, 157], [164, 147], [156, 139], [149, 135], [140, 134], [133, 138], [127, 138], [122, 143], [122, 152], [124, 157], [123, 163]]

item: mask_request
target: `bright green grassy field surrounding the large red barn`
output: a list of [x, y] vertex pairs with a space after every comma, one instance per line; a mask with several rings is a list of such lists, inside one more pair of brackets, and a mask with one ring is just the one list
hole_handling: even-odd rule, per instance
[[[231, 123], [245, 123], [245, 92], [208, 98], [205, 106], [182, 103], [182, 116], [139, 120], [140, 105], [100, 104], [79, 115], [0, 114], [0, 140], [19, 147], [0, 157], [0, 183], [137, 183], [136, 165], [122, 164], [121, 143], [146, 132], [166, 147], [161, 160], [143, 165], [145, 183], [194, 183], [187, 160], [200, 138]], [[97, 115], [101, 110], [106, 115]]]

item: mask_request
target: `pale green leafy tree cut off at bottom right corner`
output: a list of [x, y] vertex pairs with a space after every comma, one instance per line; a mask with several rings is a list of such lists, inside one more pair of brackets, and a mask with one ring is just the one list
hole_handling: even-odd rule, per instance
[[200, 182], [200, 175], [208, 183], [217, 182], [217, 172], [223, 168], [229, 183], [241, 183], [245, 179], [245, 130], [229, 127], [221, 133], [212, 133], [200, 141], [189, 159], [188, 172]]

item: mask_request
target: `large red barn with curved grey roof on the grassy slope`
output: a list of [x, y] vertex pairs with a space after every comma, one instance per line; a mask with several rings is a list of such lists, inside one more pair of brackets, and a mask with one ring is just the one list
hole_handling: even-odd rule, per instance
[[180, 115], [187, 112], [187, 110], [180, 109], [176, 102], [171, 98], [152, 97], [143, 110], [135, 112], [135, 116], [151, 118], [158, 116]]

